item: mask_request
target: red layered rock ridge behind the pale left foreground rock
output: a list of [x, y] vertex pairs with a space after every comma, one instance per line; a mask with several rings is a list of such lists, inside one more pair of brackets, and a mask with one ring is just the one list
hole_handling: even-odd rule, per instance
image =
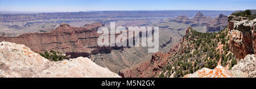
[[[109, 52], [110, 48], [97, 46], [97, 39], [101, 35], [94, 29], [103, 26], [93, 23], [82, 28], [71, 27], [61, 23], [52, 32], [24, 33], [17, 37], [0, 37], [0, 41], [24, 44], [34, 52], [56, 50], [71, 54], [73, 57], [88, 57], [90, 54]], [[89, 27], [89, 28], [86, 28]]]

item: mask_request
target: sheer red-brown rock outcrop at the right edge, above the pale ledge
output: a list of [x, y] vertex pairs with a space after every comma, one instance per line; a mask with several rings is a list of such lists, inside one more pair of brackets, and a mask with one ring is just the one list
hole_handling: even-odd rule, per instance
[[229, 48], [237, 58], [244, 58], [247, 54], [255, 54], [256, 51], [256, 19], [229, 16]]

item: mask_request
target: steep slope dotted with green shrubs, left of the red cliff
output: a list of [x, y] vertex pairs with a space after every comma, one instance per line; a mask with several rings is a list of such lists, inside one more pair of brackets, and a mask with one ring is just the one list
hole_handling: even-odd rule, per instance
[[[234, 55], [230, 53], [228, 47], [228, 29], [222, 29], [217, 33], [201, 33], [191, 29], [184, 40], [185, 48], [168, 57], [170, 63], [163, 69], [163, 71], [168, 70], [168, 75], [164, 75], [165, 77], [169, 77], [174, 72], [174, 77], [184, 77], [203, 67], [214, 69], [220, 60], [222, 66], [236, 64], [229, 62], [234, 59]], [[222, 48], [218, 49], [218, 46]]]

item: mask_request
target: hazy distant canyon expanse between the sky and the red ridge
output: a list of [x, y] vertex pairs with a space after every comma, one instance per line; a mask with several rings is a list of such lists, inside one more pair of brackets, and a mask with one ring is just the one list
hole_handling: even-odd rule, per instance
[[[54, 12], [39, 14], [0, 14], [0, 36], [19, 36], [28, 32], [51, 32], [61, 23], [72, 27], [84, 27], [84, 24], [101, 22], [110, 27], [151, 26], [154, 23], [183, 15], [192, 18], [199, 10], [170, 11], [88, 11], [88, 12]], [[205, 16], [215, 18], [219, 14], [229, 15], [233, 11], [200, 11]]]

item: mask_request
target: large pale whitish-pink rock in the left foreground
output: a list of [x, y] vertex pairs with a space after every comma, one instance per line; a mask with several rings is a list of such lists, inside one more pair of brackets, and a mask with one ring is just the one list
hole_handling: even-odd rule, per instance
[[0, 77], [119, 77], [89, 58], [51, 62], [24, 45], [0, 43]]

